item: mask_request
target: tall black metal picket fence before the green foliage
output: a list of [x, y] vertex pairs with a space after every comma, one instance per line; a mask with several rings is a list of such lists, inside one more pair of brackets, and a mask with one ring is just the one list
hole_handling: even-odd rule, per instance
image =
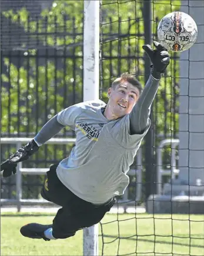
[[[106, 101], [106, 90], [113, 79], [122, 72], [135, 74], [144, 82], [144, 56], [136, 46], [144, 41], [141, 19], [135, 20], [136, 33], [132, 32], [132, 19], [126, 29], [115, 29], [112, 18], [102, 31], [101, 97]], [[118, 25], [122, 24], [119, 19]], [[59, 24], [57, 16], [47, 17], [2, 15], [1, 19], [1, 137], [34, 137], [39, 129], [61, 109], [83, 99], [83, 19], [69, 19], [62, 15]], [[162, 80], [162, 88], [153, 105], [153, 144], [158, 147], [162, 139], [176, 138], [178, 131], [178, 94], [176, 80], [177, 59], [172, 55], [170, 74]], [[172, 75], [171, 75], [172, 74]], [[174, 86], [169, 91], [169, 84]], [[74, 138], [71, 129], [66, 128], [58, 138]], [[60, 161], [71, 151], [73, 145], [45, 145], [25, 168], [48, 168]], [[141, 147], [145, 150], [144, 144]], [[1, 159], [15, 151], [14, 145], [1, 145]], [[153, 148], [155, 150], [155, 148]], [[155, 150], [156, 152], [156, 150]], [[163, 155], [163, 168], [169, 168], [171, 149]], [[156, 177], [156, 154], [152, 173]], [[142, 154], [142, 167], [148, 159]], [[135, 168], [137, 162], [133, 163]], [[136, 169], [136, 168], [135, 168]], [[156, 178], [153, 179], [156, 179]], [[152, 180], [152, 178], [151, 178]], [[38, 198], [43, 175], [23, 175], [22, 197]], [[145, 178], [143, 178], [145, 183]], [[136, 179], [130, 184], [130, 200], [136, 197]], [[132, 190], [131, 190], [132, 189]], [[1, 178], [2, 198], [16, 197], [15, 178]], [[145, 198], [145, 189], [141, 202]]]

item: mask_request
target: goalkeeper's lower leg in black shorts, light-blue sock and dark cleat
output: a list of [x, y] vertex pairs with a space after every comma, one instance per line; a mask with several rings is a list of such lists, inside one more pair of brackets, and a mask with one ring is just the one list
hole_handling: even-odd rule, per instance
[[82, 228], [91, 227], [102, 220], [114, 201], [100, 206], [74, 198], [70, 205], [58, 210], [52, 225], [31, 223], [21, 228], [21, 234], [29, 238], [44, 240], [64, 239], [75, 235]]

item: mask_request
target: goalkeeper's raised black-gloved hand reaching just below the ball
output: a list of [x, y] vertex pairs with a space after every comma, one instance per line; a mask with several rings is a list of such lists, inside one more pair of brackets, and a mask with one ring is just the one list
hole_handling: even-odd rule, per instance
[[152, 77], [160, 79], [166, 67], [169, 65], [170, 58], [167, 49], [159, 42], [154, 41], [153, 45], [155, 45], [155, 50], [152, 49], [151, 45], [143, 45], [142, 48], [152, 62]]

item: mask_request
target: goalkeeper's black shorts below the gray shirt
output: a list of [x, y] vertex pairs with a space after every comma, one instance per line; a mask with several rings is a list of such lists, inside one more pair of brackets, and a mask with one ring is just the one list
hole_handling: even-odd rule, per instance
[[58, 164], [52, 165], [47, 172], [41, 195], [45, 200], [62, 207], [53, 219], [53, 237], [67, 238], [75, 235], [76, 231], [101, 221], [105, 213], [111, 210], [115, 198], [102, 205], [94, 205], [82, 200], [62, 184], [56, 175], [56, 167]]

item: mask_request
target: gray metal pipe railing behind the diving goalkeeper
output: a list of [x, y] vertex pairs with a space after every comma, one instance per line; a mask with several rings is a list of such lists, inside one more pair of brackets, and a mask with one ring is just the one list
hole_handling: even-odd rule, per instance
[[[16, 148], [21, 148], [22, 144], [26, 144], [31, 141], [31, 138], [1, 138], [1, 144], [16, 144]], [[68, 144], [75, 143], [75, 138], [52, 138], [46, 142], [46, 144]], [[172, 145], [171, 155], [171, 169], [162, 168], [162, 149], [165, 145]], [[160, 142], [157, 149], [157, 194], [162, 194], [162, 176], [169, 175], [171, 178], [175, 178], [175, 175], [179, 173], [179, 169], [176, 169], [176, 146], [179, 144], [179, 139], [164, 139]], [[119, 202], [126, 203], [126, 205], [135, 204], [135, 201], [141, 201], [142, 198], [142, 150], [139, 148], [136, 154], [137, 169], [130, 169], [128, 175], [136, 175], [136, 198], [134, 201], [128, 200], [129, 190], [126, 189], [125, 194]], [[1, 204], [16, 204], [18, 211], [21, 211], [21, 205], [43, 205], [53, 204], [46, 200], [41, 199], [22, 199], [22, 174], [28, 175], [42, 175], [49, 171], [48, 168], [22, 168], [22, 162], [17, 165], [16, 171], [16, 199], [1, 199]]]

